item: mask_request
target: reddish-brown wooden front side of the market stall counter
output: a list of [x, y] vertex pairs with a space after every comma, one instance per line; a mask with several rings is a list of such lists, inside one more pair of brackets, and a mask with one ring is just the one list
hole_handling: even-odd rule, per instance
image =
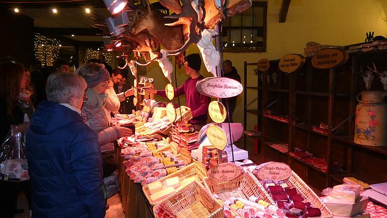
[[120, 195], [122, 199], [122, 209], [126, 218], [154, 217], [152, 206], [142, 190], [141, 184], [134, 183], [126, 175], [125, 167], [122, 164], [124, 159], [119, 155], [121, 148], [117, 148], [118, 157], [118, 179], [120, 184]]

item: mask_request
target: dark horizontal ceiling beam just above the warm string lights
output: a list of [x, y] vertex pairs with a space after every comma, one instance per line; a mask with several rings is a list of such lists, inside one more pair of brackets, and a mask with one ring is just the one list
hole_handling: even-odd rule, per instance
[[82, 35], [97, 36], [102, 31], [97, 28], [42, 28], [35, 27], [35, 32], [44, 35]]

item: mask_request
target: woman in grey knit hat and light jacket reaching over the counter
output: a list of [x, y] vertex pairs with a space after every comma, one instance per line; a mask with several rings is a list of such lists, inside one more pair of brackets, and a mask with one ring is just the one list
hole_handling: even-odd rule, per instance
[[[77, 69], [77, 74], [87, 82], [86, 94], [88, 100], [82, 106], [83, 121], [97, 134], [98, 143], [102, 153], [102, 167], [108, 198], [116, 193], [115, 186], [111, 182], [117, 162], [114, 160], [113, 141], [120, 137], [133, 134], [131, 129], [114, 126], [110, 127], [108, 116], [110, 111], [105, 108], [107, 95], [106, 89], [110, 80], [109, 72], [102, 64], [90, 63]], [[106, 181], [106, 177], [110, 178]], [[110, 190], [112, 189], [112, 190]]]

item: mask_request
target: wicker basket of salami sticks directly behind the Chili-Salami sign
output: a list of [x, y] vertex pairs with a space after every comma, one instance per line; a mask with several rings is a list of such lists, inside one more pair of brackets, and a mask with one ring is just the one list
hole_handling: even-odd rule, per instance
[[[218, 195], [223, 201], [230, 197], [248, 199], [254, 195], [276, 205], [265, 188], [250, 172], [244, 172], [238, 178], [227, 182], [217, 182], [206, 177], [203, 183], [212, 194]], [[223, 204], [221, 201], [219, 203]]]

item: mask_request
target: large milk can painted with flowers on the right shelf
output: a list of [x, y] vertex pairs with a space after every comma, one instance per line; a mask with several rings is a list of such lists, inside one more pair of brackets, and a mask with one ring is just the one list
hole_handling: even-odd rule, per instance
[[[361, 95], [361, 100], [359, 99]], [[383, 91], [362, 91], [355, 112], [356, 144], [368, 146], [387, 145], [387, 104]]]

